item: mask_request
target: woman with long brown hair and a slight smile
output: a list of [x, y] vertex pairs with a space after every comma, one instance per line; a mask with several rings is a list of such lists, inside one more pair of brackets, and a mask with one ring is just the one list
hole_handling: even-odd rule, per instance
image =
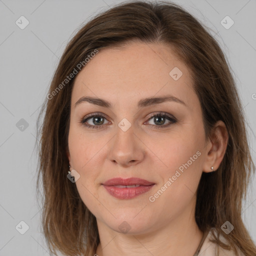
[[241, 102], [217, 42], [178, 5], [122, 3], [85, 24], [37, 125], [51, 252], [256, 255]]

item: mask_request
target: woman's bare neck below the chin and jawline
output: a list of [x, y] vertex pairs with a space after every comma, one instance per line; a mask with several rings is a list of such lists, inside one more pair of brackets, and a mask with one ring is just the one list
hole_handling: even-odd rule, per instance
[[144, 233], [120, 233], [98, 219], [97, 225], [100, 238], [96, 249], [98, 256], [193, 256], [203, 236], [191, 211]]

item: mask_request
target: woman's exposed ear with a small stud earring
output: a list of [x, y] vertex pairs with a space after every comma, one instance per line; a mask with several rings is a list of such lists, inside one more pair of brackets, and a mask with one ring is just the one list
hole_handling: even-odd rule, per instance
[[213, 170], [219, 167], [226, 151], [227, 142], [228, 132], [226, 126], [223, 121], [219, 120], [214, 125], [206, 145], [207, 155], [203, 163], [204, 172], [211, 172], [211, 166], [213, 166]]

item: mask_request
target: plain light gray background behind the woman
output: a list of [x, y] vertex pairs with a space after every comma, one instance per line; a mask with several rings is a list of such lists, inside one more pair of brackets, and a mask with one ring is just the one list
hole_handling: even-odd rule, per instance
[[[49, 255], [40, 233], [41, 209], [35, 196], [36, 118], [68, 40], [82, 23], [117, 2], [120, 1], [0, 0], [0, 255]], [[246, 112], [255, 162], [256, 1], [174, 2], [211, 28], [225, 52]], [[21, 15], [29, 21], [24, 29], [15, 23]], [[234, 21], [229, 29], [221, 24], [226, 15]], [[230, 20], [224, 22], [230, 24]], [[28, 127], [20, 126], [25, 123], [21, 118]], [[242, 218], [256, 242], [255, 185], [254, 177]], [[15, 229], [21, 220], [29, 226], [24, 234]]]

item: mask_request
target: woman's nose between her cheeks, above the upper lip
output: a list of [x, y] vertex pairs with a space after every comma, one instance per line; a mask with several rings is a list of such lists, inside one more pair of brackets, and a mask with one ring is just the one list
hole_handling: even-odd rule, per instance
[[145, 156], [145, 145], [134, 133], [132, 125], [126, 131], [118, 126], [116, 129], [116, 134], [108, 144], [108, 159], [125, 167], [141, 162]]

